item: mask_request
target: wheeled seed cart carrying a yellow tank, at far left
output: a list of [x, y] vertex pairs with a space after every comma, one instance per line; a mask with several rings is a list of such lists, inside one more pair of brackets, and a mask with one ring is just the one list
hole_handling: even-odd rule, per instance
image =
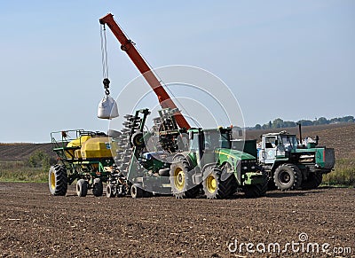
[[78, 196], [86, 196], [90, 189], [95, 196], [101, 196], [103, 182], [114, 165], [109, 137], [102, 132], [76, 129], [52, 132], [51, 143], [58, 156], [58, 164], [49, 170], [51, 194], [66, 195], [67, 185], [76, 180]]

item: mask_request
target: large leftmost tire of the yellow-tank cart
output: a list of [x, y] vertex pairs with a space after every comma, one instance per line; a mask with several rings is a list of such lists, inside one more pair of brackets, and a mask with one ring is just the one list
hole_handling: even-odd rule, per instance
[[51, 195], [64, 196], [67, 193], [67, 169], [59, 164], [52, 166], [48, 175]]

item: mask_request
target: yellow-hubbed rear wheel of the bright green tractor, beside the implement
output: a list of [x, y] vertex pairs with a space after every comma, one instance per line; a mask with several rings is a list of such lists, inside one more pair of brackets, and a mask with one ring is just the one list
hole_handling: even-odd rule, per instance
[[174, 158], [169, 179], [171, 192], [176, 199], [195, 198], [200, 192], [200, 185], [193, 185], [192, 171], [184, 157]]

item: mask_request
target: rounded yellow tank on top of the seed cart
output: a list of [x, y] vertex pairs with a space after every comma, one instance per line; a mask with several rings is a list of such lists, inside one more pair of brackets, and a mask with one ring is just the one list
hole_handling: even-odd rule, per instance
[[108, 137], [92, 137], [82, 145], [81, 153], [83, 160], [112, 158], [111, 148], [113, 148], [113, 151], [116, 149], [110, 145]]

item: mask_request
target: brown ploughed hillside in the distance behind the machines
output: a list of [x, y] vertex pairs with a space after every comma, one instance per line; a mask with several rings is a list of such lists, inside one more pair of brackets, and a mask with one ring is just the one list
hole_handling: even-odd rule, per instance
[[[259, 129], [247, 130], [246, 137], [248, 139], [260, 140], [260, 136], [269, 132], [280, 132], [287, 130], [290, 133], [298, 135], [298, 127], [282, 128], [282, 129]], [[355, 157], [355, 123], [336, 123], [318, 126], [304, 126], [302, 128], [303, 137], [319, 136], [319, 145], [327, 145], [327, 147], [335, 148], [336, 158], [353, 158]], [[51, 157], [55, 157], [55, 153], [51, 150], [51, 144], [28, 144], [0, 143], [0, 161], [25, 161], [36, 151], [44, 151]]]

